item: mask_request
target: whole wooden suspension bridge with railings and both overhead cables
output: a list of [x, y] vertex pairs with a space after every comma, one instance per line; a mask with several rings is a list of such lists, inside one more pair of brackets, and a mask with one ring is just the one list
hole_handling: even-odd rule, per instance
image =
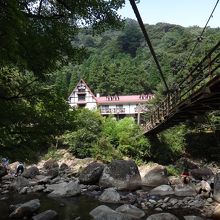
[[[176, 83], [175, 88], [170, 90], [135, 0], [129, 1], [167, 91], [165, 99], [150, 112], [149, 120], [143, 125], [144, 133], [159, 133], [180, 122], [192, 119], [194, 116], [205, 114], [208, 111], [220, 110], [220, 41], [186, 74], [182, 81]], [[218, 3], [219, 0], [217, 0], [198, 41], [186, 59], [186, 64], [193, 55], [199, 40], [203, 39], [202, 35], [213, 17]]]

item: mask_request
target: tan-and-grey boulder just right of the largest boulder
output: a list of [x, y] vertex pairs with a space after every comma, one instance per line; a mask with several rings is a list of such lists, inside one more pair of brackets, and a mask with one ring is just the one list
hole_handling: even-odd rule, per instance
[[140, 169], [143, 186], [156, 187], [168, 184], [167, 170], [164, 166], [155, 164], [142, 166]]

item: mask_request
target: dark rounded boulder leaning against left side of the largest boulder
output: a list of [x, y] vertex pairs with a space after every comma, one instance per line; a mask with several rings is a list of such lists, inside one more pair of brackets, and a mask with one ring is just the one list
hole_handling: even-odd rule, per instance
[[90, 163], [80, 174], [79, 181], [82, 184], [95, 184], [99, 181], [104, 165], [101, 163]]

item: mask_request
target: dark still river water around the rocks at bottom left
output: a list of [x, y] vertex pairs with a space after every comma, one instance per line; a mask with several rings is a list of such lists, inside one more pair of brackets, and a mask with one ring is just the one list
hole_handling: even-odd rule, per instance
[[31, 199], [40, 199], [41, 207], [38, 213], [52, 209], [57, 211], [57, 220], [74, 220], [80, 217], [81, 220], [92, 219], [89, 212], [95, 207], [101, 205], [98, 200], [88, 196], [77, 196], [72, 198], [49, 198], [45, 194], [35, 193], [27, 195], [10, 194], [0, 196], [0, 199], [7, 197], [7, 199], [0, 200], [0, 220], [8, 220], [11, 211], [9, 206], [12, 204], [19, 204], [27, 202]]

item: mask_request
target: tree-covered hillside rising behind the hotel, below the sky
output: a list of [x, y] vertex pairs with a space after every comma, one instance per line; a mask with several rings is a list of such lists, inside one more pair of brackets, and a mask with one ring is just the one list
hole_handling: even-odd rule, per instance
[[[202, 28], [158, 23], [146, 24], [146, 29], [170, 88], [220, 39], [220, 28], [207, 28], [186, 62]], [[128, 19], [122, 30], [109, 30], [101, 35], [82, 30], [74, 45], [87, 49], [86, 59], [81, 65], [69, 64], [57, 71], [56, 84], [64, 97], [68, 97], [79, 78], [85, 79], [94, 93], [102, 95], [163, 90], [159, 72], [136, 21]], [[184, 71], [180, 71], [184, 66]]]

